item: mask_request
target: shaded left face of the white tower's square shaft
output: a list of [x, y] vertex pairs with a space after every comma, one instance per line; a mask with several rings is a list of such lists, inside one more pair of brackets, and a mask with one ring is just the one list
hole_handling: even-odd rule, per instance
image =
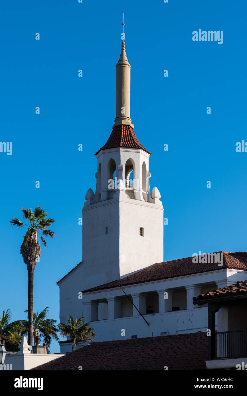
[[119, 200], [84, 207], [82, 250], [84, 290], [119, 278]]

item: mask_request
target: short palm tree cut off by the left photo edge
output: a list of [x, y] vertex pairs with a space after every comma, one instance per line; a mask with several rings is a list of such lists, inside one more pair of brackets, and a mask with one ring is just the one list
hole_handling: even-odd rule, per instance
[[10, 343], [11, 345], [19, 345], [19, 341], [21, 340], [21, 326], [23, 324], [23, 320], [15, 320], [15, 322], [11, 322], [11, 312], [9, 309], [4, 311], [2, 314], [2, 318], [0, 316], [0, 343], [5, 345], [5, 342]]

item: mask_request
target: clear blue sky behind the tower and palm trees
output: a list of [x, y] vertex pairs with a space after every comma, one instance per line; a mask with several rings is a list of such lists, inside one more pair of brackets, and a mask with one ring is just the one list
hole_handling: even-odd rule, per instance
[[[13, 320], [25, 318], [25, 231], [9, 221], [39, 204], [57, 223], [34, 271], [34, 310], [49, 306], [59, 320], [56, 282], [82, 259], [78, 219], [86, 191], [95, 189], [94, 153], [115, 118], [122, 10], [131, 118], [152, 152], [150, 184], [168, 218], [164, 260], [247, 250], [247, 153], [235, 150], [247, 141], [245, 1], [14, 0], [1, 7], [0, 141], [13, 142], [13, 154], [0, 153], [0, 314], [10, 308]], [[223, 44], [193, 42], [198, 29], [223, 30]]]

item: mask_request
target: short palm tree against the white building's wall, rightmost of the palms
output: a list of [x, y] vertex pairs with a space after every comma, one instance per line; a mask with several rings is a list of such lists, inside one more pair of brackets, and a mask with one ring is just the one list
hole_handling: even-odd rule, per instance
[[69, 315], [68, 322], [69, 324], [59, 323], [57, 328], [61, 331], [61, 336], [70, 337], [72, 340], [72, 350], [75, 350], [79, 341], [94, 342], [89, 336], [95, 338], [97, 334], [93, 332], [93, 327], [89, 327], [89, 323], [84, 323], [84, 316], [81, 316], [75, 321], [73, 317]]

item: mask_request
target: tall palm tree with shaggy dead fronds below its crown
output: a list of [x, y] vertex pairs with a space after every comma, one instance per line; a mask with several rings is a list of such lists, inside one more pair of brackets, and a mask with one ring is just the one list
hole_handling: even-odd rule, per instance
[[40, 258], [40, 243], [38, 239], [38, 234], [40, 235], [40, 239], [46, 247], [46, 241], [38, 232], [42, 232], [43, 236], [50, 236], [54, 238], [55, 232], [48, 230], [52, 223], [56, 223], [54, 219], [47, 219], [48, 213], [41, 208], [41, 206], [36, 206], [34, 211], [33, 209], [21, 208], [23, 212], [23, 219], [29, 221], [29, 225], [26, 223], [22, 223], [16, 217], [10, 221], [12, 225], [17, 225], [18, 229], [21, 229], [26, 225], [28, 227], [26, 234], [24, 235], [24, 240], [21, 245], [20, 251], [23, 257], [24, 263], [27, 265], [28, 271], [28, 344], [33, 345], [33, 275], [34, 268], [36, 266], [37, 261]]

